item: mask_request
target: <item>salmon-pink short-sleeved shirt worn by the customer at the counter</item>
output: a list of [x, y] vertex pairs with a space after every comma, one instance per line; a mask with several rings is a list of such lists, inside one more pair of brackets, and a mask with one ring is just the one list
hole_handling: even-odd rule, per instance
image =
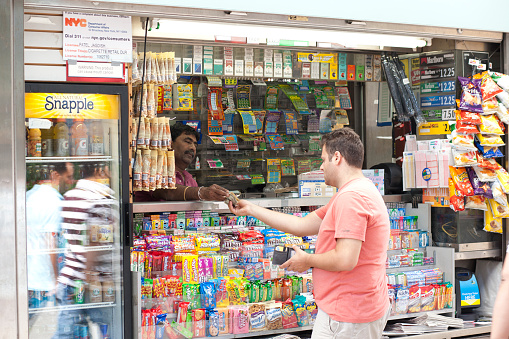
[[362, 241], [353, 270], [313, 269], [316, 304], [336, 321], [367, 323], [380, 319], [389, 308], [385, 281], [389, 215], [382, 196], [369, 179], [354, 179], [316, 214], [322, 219], [316, 253], [333, 250], [339, 238]]

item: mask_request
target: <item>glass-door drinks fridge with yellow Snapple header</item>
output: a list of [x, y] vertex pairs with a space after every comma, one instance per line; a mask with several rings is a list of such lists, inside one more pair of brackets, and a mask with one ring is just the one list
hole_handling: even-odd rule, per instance
[[30, 338], [132, 337], [128, 88], [27, 83]]

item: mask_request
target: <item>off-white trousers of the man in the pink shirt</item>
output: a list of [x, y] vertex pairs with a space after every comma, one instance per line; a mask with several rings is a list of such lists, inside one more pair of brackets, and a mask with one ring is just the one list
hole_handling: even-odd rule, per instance
[[389, 314], [390, 307], [382, 318], [370, 323], [345, 323], [318, 309], [311, 339], [380, 339]]

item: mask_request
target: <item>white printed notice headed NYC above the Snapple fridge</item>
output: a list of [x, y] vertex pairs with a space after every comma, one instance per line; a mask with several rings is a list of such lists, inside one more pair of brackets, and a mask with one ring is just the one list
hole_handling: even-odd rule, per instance
[[132, 62], [131, 17], [64, 12], [63, 59]]

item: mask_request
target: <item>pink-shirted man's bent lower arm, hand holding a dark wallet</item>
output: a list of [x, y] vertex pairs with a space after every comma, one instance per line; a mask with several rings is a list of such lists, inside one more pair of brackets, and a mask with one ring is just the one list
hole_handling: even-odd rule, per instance
[[357, 266], [361, 247], [362, 241], [347, 238], [337, 239], [333, 250], [320, 254], [309, 254], [293, 246], [296, 253], [281, 268], [295, 272], [305, 272], [311, 267], [331, 272], [351, 271]]

